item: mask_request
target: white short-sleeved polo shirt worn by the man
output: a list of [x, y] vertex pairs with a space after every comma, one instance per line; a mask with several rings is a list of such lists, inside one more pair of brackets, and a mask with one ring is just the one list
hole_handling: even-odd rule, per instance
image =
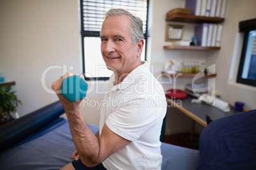
[[114, 133], [130, 140], [103, 161], [106, 169], [161, 169], [160, 131], [166, 115], [162, 85], [144, 62], [120, 84], [110, 77], [101, 105], [99, 133], [106, 123]]

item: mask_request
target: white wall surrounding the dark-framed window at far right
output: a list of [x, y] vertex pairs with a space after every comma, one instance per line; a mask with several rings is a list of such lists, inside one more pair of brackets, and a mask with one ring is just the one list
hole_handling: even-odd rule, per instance
[[[235, 101], [243, 101], [245, 108], [249, 109], [256, 108], [256, 88], [234, 82], [241, 56], [241, 46], [235, 46], [235, 42], [236, 38], [239, 37], [237, 36], [239, 22], [256, 18], [255, 6], [255, 0], [227, 1], [221, 49], [218, 53], [211, 54], [211, 56], [206, 58], [207, 65], [216, 64], [218, 74], [216, 77], [216, 88], [222, 96], [222, 100], [229, 102], [231, 105], [234, 105]], [[238, 53], [234, 53], [234, 51], [238, 51]], [[231, 70], [233, 58], [233, 63], [236, 66], [234, 66], [234, 70]], [[229, 79], [229, 74], [231, 74], [232, 80]]]

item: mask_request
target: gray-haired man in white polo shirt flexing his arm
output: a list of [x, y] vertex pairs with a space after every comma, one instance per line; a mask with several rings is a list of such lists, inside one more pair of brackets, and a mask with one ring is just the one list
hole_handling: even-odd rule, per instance
[[[161, 84], [141, 61], [143, 23], [122, 9], [105, 14], [101, 54], [113, 71], [101, 106], [99, 133], [90, 131], [80, 101], [57, 93], [68, 117], [76, 150], [62, 169], [161, 169], [160, 131], [166, 115]], [[57, 92], [67, 73], [53, 82]], [[113, 102], [114, 101], [114, 102]]]

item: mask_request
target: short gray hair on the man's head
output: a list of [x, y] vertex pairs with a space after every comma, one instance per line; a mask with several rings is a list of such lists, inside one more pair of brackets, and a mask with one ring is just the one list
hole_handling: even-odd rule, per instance
[[130, 21], [131, 21], [130, 36], [132, 37], [133, 44], [136, 44], [137, 42], [139, 42], [140, 39], [144, 38], [143, 22], [142, 22], [141, 18], [139, 18], [138, 16], [132, 15], [128, 11], [125, 11], [123, 9], [111, 9], [105, 13], [104, 21], [106, 20], [106, 18], [108, 18], [110, 16], [118, 16], [118, 15], [119, 16], [120, 15], [129, 16]]

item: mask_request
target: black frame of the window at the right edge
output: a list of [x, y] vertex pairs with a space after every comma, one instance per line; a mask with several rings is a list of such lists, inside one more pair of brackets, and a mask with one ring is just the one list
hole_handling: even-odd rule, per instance
[[249, 36], [249, 32], [251, 30], [256, 30], [256, 18], [252, 19], [252, 20], [246, 20], [246, 21], [243, 21], [243, 22], [239, 23], [239, 32], [244, 33], [244, 38], [243, 38], [243, 48], [242, 48], [242, 51], [241, 51], [241, 57], [240, 57], [240, 62], [239, 62], [239, 67], [238, 67], [238, 75], [237, 75], [237, 78], [236, 78], [236, 82], [256, 87], [256, 81], [255, 80], [243, 79], [243, 77], [242, 77], [243, 66], [244, 66], [244, 63], [245, 63], [246, 49], [247, 49], [247, 45], [248, 45], [248, 36]]

